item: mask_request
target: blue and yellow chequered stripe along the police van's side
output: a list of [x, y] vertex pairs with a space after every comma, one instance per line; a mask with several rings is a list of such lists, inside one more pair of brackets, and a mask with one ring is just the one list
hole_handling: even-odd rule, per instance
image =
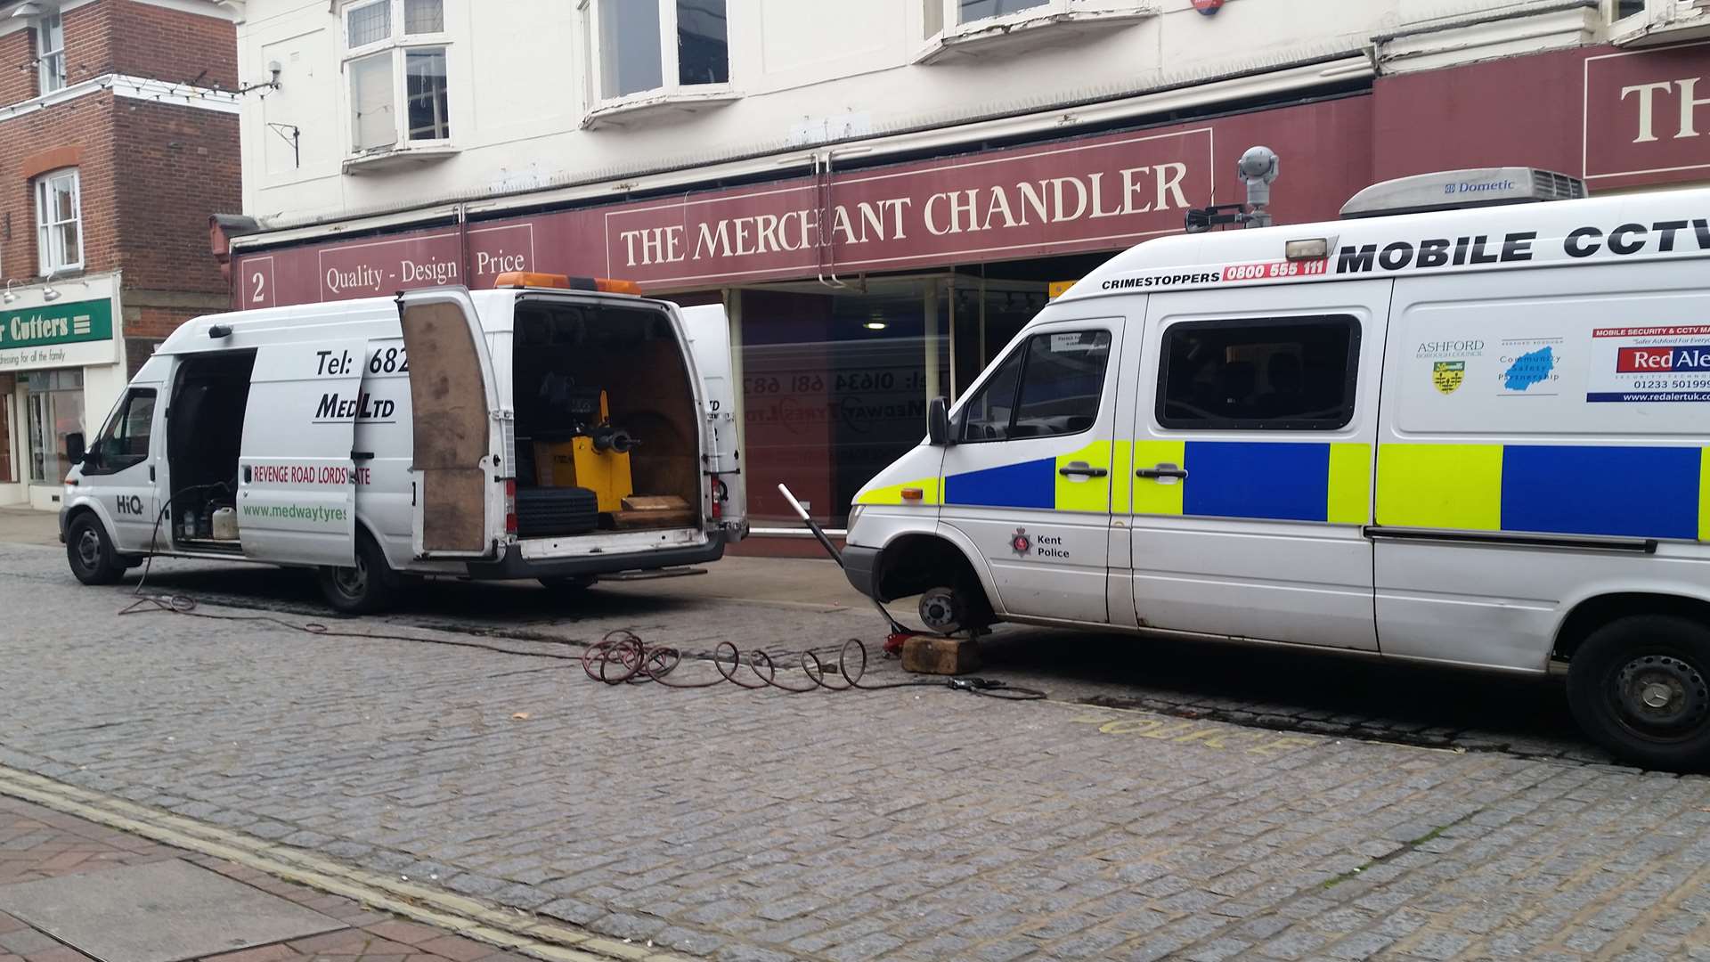
[[[1377, 460], [1375, 522], [1387, 527], [1710, 541], [1710, 448], [1392, 443]], [[1077, 462], [1110, 476], [1058, 474]], [[1134, 478], [1156, 464], [1188, 478]], [[1366, 443], [1122, 440], [876, 488], [858, 503], [899, 505], [918, 488], [922, 505], [1365, 526], [1371, 479]]]

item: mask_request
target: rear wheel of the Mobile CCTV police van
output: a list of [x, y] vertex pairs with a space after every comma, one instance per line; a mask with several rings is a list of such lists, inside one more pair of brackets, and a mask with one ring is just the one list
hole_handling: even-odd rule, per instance
[[1710, 626], [1635, 615], [1597, 628], [1573, 652], [1568, 705], [1619, 758], [1648, 769], [1710, 762]]

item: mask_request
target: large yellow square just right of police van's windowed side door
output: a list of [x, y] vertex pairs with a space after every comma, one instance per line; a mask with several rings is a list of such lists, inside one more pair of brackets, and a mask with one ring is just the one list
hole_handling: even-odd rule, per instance
[[1501, 445], [1378, 445], [1378, 524], [1501, 529]]

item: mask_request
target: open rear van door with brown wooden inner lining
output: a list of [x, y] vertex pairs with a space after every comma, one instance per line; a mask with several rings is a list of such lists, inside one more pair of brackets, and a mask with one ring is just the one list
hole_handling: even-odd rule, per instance
[[398, 294], [410, 365], [417, 558], [487, 558], [504, 526], [499, 394], [469, 291]]

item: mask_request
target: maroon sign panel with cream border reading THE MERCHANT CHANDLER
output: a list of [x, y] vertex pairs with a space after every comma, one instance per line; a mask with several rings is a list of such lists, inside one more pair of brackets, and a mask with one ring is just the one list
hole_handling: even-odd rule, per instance
[[682, 286], [1112, 250], [1182, 229], [1214, 163], [1204, 127], [610, 211], [607, 272]]

